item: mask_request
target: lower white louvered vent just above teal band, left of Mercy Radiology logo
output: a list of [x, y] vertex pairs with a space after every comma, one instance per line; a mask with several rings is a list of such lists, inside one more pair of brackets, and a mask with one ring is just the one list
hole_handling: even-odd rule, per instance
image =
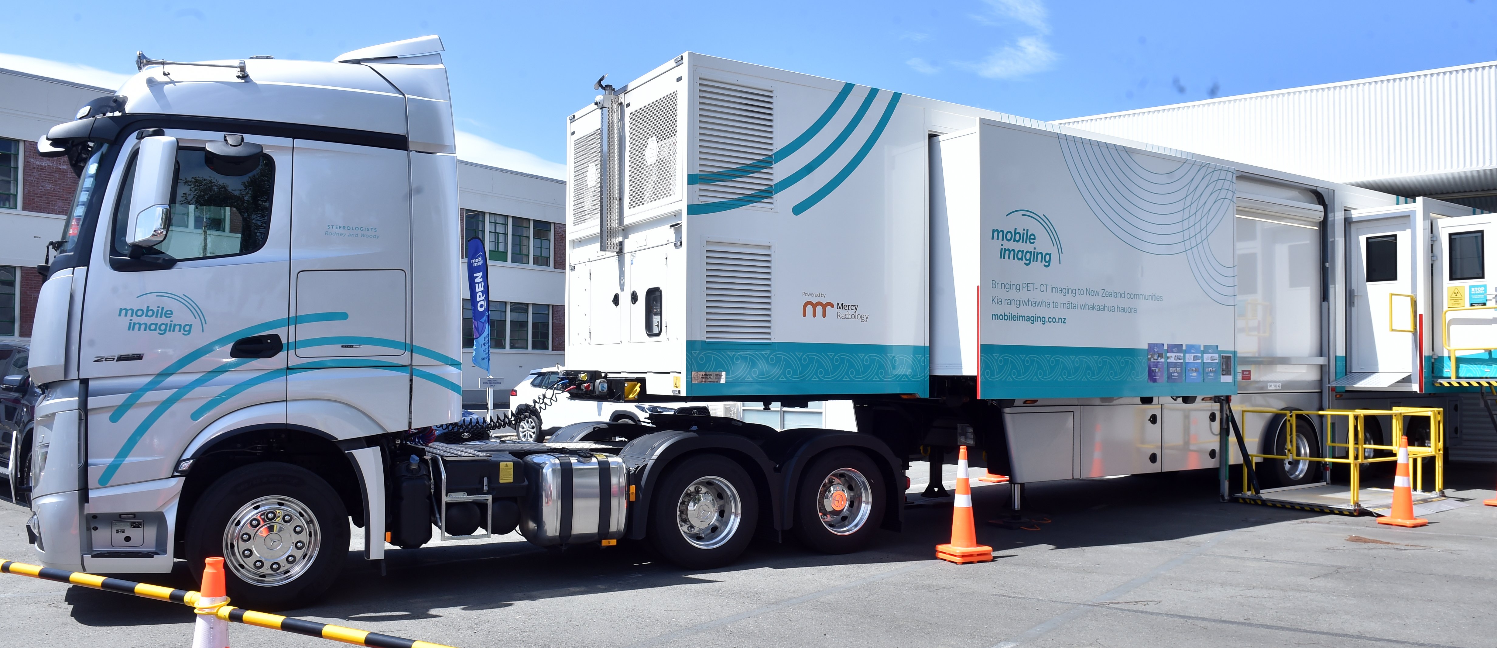
[[769, 245], [707, 242], [707, 340], [774, 338]]

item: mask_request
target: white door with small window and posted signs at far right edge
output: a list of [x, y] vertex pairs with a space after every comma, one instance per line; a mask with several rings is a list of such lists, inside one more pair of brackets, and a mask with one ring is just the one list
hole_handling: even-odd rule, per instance
[[[1497, 304], [1490, 298], [1487, 259], [1494, 245], [1493, 214], [1434, 218], [1434, 377], [1449, 379], [1457, 356], [1458, 379], [1497, 377]], [[1440, 322], [1445, 323], [1442, 331]], [[1442, 344], [1443, 343], [1443, 344]]]

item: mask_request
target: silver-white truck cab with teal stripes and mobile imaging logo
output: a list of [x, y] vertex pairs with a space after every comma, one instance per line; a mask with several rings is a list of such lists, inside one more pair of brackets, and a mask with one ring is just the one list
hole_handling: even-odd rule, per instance
[[[344, 515], [383, 551], [371, 438], [461, 404], [440, 51], [139, 57], [42, 139], [82, 168], [30, 364], [45, 564], [169, 572], [229, 545], [241, 581], [325, 587], [301, 576], [337, 570], [320, 557], [346, 546]], [[265, 453], [284, 461], [247, 467]], [[225, 519], [177, 528], [193, 507]]]

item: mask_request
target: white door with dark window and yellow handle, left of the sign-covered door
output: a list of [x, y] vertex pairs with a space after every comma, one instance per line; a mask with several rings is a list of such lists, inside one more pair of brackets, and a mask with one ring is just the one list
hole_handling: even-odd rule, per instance
[[1353, 213], [1347, 236], [1350, 328], [1347, 389], [1418, 389], [1421, 263], [1419, 210]]

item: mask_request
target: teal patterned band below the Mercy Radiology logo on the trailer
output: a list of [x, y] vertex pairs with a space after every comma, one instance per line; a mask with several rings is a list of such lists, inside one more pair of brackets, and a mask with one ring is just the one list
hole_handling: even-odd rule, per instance
[[[689, 397], [930, 394], [931, 353], [915, 344], [686, 343]], [[695, 371], [726, 382], [695, 383]]]

